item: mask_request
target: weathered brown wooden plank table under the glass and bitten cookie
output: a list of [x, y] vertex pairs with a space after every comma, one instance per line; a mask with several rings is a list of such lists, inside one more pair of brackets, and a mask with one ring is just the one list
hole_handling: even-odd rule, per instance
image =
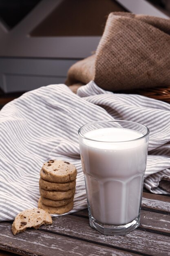
[[[0, 222], [0, 249], [20, 255], [170, 255], [170, 196], [144, 192], [139, 228], [126, 236], [104, 236], [89, 226], [87, 209], [53, 218], [39, 230], [13, 236], [12, 222]], [[0, 255], [3, 255], [0, 251]], [[4, 253], [4, 255], [12, 255]]]

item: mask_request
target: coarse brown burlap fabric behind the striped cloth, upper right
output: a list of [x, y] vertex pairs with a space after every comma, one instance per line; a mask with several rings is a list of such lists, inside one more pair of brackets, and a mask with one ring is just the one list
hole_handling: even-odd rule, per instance
[[170, 20], [110, 13], [96, 53], [68, 70], [66, 84], [91, 80], [111, 91], [170, 85]]

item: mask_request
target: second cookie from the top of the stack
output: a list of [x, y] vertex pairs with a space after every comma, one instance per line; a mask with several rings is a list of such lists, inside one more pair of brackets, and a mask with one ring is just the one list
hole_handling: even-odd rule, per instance
[[47, 180], [43, 180], [42, 178], [39, 180], [40, 188], [45, 190], [67, 191], [69, 189], [75, 188], [75, 185], [75, 180], [66, 183], [49, 182]]

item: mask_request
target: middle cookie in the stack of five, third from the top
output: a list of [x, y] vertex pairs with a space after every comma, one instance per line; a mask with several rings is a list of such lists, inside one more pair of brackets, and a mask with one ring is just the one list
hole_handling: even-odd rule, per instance
[[44, 198], [49, 198], [51, 200], [63, 200], [71, 198], [75, 193], [75, 188], [68, 191], [48, 191], [40, 188], [40, 195]]

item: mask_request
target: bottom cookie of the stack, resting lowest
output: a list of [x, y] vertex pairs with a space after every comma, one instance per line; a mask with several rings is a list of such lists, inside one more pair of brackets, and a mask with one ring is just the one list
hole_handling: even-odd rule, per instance
[[52, 206], [46, 206], [45, 204], [43, 204], [41, 198], [38, 201], [38, 207], [41, 209], [44, 209], [45, 211], [47, 211], [50, 214], [63, 214], [68, 211], [71, 211], [71, 209], [73, 209], [73, 204], [74, 203], [72, 201], [64, 206], [52, 207]]

